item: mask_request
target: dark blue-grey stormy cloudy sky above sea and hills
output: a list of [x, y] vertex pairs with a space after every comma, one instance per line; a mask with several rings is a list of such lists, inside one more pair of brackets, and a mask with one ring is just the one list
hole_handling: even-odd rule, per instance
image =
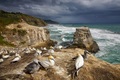
[[120, 0], [0, 0], [0, 9], [59, 23], [120, 23]]

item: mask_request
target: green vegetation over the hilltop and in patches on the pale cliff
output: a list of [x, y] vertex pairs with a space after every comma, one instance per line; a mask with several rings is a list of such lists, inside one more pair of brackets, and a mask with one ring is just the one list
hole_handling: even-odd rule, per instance
[[6, 26], [10, 24], [17, 24], [20, 22], [39, 27], [47, 25], [47, 23], [40, 18], [32, 17], [20, 12], [6, 12], [0, 10], [0, 45], [12, 45], [10, 42], [5, 41], [3, 35], [8, 36], [12, 33], [13, 35], [18, 34], [18, 36], [25, 36], [27, 34], [26, 30], [20, 29], [22, 27], [21, 25], [18, 25], [14, 29], [6, 28]]

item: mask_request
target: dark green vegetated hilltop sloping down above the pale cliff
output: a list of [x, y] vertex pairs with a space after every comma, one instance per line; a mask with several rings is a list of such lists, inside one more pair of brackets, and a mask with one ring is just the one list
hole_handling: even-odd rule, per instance
[[20, 12], [5, 12], [3, 10], [0, 10], [0, 27], [6, 26], [11, 23], [18, 23], [21, 21], [25, 21], [30, 25], [34, 26], [46, 26], [47, 23], [44, 22], [40, 18], [32, 17], [27, 14], [23, 14]]

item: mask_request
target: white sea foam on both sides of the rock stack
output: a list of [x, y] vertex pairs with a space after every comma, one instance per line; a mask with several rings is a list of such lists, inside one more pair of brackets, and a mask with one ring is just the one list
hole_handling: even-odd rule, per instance
[[[65, 41], [69, 41], [71, 39], [67, 39], [67, 36], [73, 35], [76, 30], [76, 27], [66, 27], [63, 25], [48, 25], [48, 29], [55, 33], [51, 33], [52, 38], [57, 36], [58, 41], [62, 41], [62, 38]], [[111, 31], [97, 29], [97, 28], [90, 28], [91, 34], [95, 41], [97, 41], [100, 51], [96, 54], [97, 57], [101, 57], [109, 53], [109, 50], [114, 48], [114, 46], [120, 44], [120, 35], [114, 34]], [[69, 34], [69, 35], [68, 35]], [[61, 36], [64, 37], [61, 38]], [[55, 39], [54, 39], [55, 40]]]

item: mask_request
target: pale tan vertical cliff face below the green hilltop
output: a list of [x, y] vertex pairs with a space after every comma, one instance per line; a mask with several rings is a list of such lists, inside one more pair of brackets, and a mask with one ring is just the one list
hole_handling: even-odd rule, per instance
[[4, 40], [19, 45], [37, 45], [50, 41], [49, 31], [43, 27], [37, 27], [27, 24], [26, 22], [10, 24], [6, 26], [9, 30], [1, 34]]

